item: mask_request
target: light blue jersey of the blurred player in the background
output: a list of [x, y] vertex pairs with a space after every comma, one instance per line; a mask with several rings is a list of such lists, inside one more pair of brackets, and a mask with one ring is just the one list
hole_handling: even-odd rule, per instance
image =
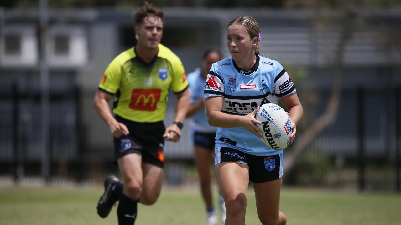
[[[191, 104], [197, 102], [199, 98], [203, 98], [203, 89], [205, 88], [206, 80], [202, 77], [201, 73], [201, 70], [197, 69], [186, 76], [190, 95], [189, 102]], [[206, 112], [204, 109], [199, 110], [191, 117], [190, 129], [192, 133], [216, 133], [217, 131], [217, 127], [212, 127], [207, 123]]]

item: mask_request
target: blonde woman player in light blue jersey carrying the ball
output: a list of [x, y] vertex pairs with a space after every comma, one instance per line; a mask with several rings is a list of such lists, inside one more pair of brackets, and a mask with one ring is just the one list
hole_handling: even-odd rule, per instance
[[226, 27], [231, 57], [213, 64], [205, 84], [205, 107], [216, 133], [215, 168], [226, 202], [225, 224], [245, 224], [247, 188], [253, 184], [262, 224], [286, 224], [279, 211], [283, 151], [261, 140], [261, 124], [254, 116], [259, 106], [280, 100], [289, 110], [291, 142], [303, 110], [294, 83], [275, 60], [259, 56], [259, 25], [249, 16], [233, 19]]

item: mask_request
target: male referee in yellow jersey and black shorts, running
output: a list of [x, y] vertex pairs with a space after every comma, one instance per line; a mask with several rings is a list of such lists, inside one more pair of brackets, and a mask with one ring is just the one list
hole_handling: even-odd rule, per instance
[[[109, 64], [94, 99], [95, 109], [114, 136], [114, 160], [124, 183], [113, 175], [105, 179], [97, 214], [107, 217], [115, 201], [119, 201], [119, 225], [134, 224], [138, 202], [152, 205], [158, 199], [163, 180], [164, 140], [180, 139], [189, 105], [182, 62], [160, 44], [163, 11], [145, 2], [134, 20], [136, 46]], [[178, 102], [174, 123], [165, 128], [169, 88]], [[115, 117], [108, 104], [114, 94]]]

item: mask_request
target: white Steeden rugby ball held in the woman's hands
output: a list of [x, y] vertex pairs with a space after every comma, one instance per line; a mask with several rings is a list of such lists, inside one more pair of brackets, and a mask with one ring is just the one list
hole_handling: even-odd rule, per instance
[[262, 122], [257, 126], [263, 130], [261, 140], [272, 149], [285, 149], [290, 144], [291, 120], [286, 111], [273, 103], [259, 107], [255, 119]]

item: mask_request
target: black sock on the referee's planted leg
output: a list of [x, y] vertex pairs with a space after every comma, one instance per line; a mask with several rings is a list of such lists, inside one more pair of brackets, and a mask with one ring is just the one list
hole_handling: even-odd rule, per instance
[[119, 225], [133, 225], [136, 219], [138, 199], [133, 200], [124, 194], [120, 196], [117, 207], [117, 218]]

